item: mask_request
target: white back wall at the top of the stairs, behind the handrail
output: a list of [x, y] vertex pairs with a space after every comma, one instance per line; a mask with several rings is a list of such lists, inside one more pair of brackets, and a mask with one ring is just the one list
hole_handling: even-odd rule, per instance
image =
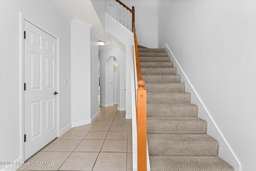
[[134, 6], [138, 44], [149, 48], [157, 48], [157, 0], [122, 0], [122, 2], [130, 9]]

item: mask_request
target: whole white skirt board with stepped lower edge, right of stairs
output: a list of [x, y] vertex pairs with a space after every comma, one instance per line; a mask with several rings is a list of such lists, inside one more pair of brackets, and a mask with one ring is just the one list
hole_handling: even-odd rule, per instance
[[212, 136], [212, 138], [216, 139], [219, 142], [220, 146], [218, 155], [227, 163], [229, 163], [236, 171], [241, 171], [241, 164], [236, 155], [234, 154], [234, 151], [231, 149], [230, 145], [226, 141], [226, 138], [223, 136], [216, 122], [213, 120], [211, 114], [208, 112], [206, 106], [202, 102], [201, 98], [198, 96], [188, 77], [184, 73], [182, 67], [179, 65], [178, 61], [174, 57], [172, 51], [170, 50], [168, 45], [165, 45], [164, 48], [166, 49], [166, 52], [168, 52], [168, 55], [171, 57], [171, 61], [173, 62], [174, 67], [177, 68], [177, 75], [181, 76], [181, 83], [185, 83], [186, 92], [189, 92], [191, 94], [191, 103], [198, 106], [198, 117], [207, 121], [207, 134]]

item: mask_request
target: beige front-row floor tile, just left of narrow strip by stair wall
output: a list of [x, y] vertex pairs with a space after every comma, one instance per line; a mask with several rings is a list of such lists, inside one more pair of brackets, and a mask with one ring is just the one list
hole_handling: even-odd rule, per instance
[[93, 171], [126, 171], [126, 153], [100, 153]]

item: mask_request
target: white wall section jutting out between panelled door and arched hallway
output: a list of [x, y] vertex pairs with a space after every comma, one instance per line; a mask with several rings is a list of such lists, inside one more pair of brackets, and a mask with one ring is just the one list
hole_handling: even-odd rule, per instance
[[89, 124], [98, 114], [98, 38], [92, 25], [71, 23], [72, 127]]

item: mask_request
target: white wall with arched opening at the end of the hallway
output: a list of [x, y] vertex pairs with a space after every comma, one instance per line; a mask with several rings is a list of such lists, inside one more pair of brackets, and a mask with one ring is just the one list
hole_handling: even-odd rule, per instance
[[[116, 48], [110, 47], [100, 51], [100, 105], [108, 106], [108, 78], [106, 77], [106, 63], [109, 58], [115, 57], [118, 61], [118, 110], [126, 110], [126, 79], [125, 79], [125, 52]], [[109, 64], [108, 68], [113, 69], [113, 60]], [[113, 75], [113, 71], [112, 71]], [[113, 96], [113, 93], [112, 93]]]

